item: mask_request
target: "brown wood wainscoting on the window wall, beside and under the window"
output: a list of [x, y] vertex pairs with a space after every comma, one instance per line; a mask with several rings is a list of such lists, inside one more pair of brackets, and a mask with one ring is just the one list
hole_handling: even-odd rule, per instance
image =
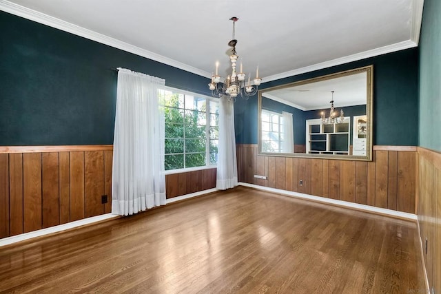
[[[113, 145], [1, 146], [0, 238], [110, 213], [112, 157]], [[165, 181], [167, 198], [203, 191], [216, 187], [216, 169]]]

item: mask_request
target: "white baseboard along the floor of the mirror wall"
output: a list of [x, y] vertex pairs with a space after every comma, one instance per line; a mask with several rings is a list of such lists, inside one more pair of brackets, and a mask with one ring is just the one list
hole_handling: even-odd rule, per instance
[[413, 214], [413, 213], [395, 211], [395, 210], [384, 209], [384, 208], [380, 208], [380, 207], [371, 207], [371, 206], [365, 205], [365, 204], [358, 204], [358, 203], [347, 202], [347, 201], [342, 201], [342, 200], [323, 198], [323, 197], [312, 196], [312, 195], [308, 195], [308, 194], [304, 194], [304, 193], [286, 191], [286, 190], [282, 190], [282, 189], [263, 187], [263, 186], [259, 186], [259, 185], [248, 184], [247, 182], [239, 182], [238, 184], [241, 186], [251, 187], [254, 189], [258, 189], [258, 190], [279, 193], [279, 194], [283, 194], [285, 196], [290, 196], [290, 197], [294, 197], [294, 198], [302, 198], [302, 199], [307, 199], [307, 200], [313, 200], [316, 202], [334, 204], [334, 205], [338, 205], [340, 207], [349, 207], [352, 209], [358, 209], [358, 210], [362, 210], [362, 211], [380, 213], [380, 214], [384, 214], [386, 216], [393, 216], [393, 217], [404, 218], [404, 219], [409, 219], [409, 220], [418, 220], [416, 214]]

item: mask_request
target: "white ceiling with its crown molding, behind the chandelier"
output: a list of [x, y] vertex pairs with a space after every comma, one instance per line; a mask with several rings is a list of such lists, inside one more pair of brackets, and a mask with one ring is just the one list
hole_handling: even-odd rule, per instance
[[236, 23], [263, 82], [418, 45], [424, 0], [0, 0], [0, 10], [211, 76]]

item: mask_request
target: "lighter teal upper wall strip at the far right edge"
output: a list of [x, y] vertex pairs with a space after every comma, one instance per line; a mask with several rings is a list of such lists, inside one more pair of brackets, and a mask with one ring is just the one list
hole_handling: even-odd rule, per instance
[[441, 151], [441, 1], [425, 0], [420, 34], [419, 138]]

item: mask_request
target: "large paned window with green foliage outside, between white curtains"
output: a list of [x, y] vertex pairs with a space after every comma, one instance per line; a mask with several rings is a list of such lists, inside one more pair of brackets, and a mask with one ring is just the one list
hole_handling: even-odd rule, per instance
[[165, 113], [165, 170], [216, 165], [218, 102], [178, 90], [158, 92]]

